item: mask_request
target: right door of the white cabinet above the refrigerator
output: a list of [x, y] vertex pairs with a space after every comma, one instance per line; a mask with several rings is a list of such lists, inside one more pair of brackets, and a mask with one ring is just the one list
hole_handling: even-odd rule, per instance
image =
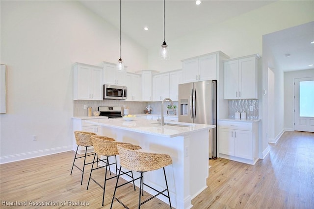
[[198, 60], [199, 80], [216, 80], [216, 54], [200, 57]]

